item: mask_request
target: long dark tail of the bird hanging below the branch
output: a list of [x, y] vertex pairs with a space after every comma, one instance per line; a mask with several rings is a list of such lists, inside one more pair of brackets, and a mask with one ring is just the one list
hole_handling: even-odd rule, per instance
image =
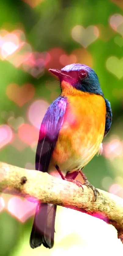
[[52, 248], [54, 244], [56, 205], [40, 203], [36, 208], [34, 222], [30, 236], [31, 248], [43, 244], [46, 248]]

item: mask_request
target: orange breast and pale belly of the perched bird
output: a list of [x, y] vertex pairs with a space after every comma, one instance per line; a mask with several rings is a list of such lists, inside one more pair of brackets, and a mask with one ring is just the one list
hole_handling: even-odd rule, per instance
[[102, 96], [67, 95], [68, 105], [52, 155], [61, 170], [83, 167], [99, 151], [105, 130], [106, 105]]

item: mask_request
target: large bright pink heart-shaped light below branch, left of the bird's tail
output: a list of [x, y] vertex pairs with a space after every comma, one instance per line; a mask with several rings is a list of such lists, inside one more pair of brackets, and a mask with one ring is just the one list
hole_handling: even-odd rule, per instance
[[29, 219], [36, 209], [37, 203], [29, 202], [27, 199], [13, 196], [8, 201], [8, 211], [19, 221], [25, 222]]

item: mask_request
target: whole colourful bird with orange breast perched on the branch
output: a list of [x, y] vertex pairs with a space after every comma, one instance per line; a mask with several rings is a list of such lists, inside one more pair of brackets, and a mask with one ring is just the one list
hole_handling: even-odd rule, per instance
[[[55, 169], [63, 179], [74, 180], [80, 172], [84, 185], [91, 185], [82, 169], [100, 150], [112, 123], [110, 102], [104, 97], [96, 72], [85, 64], [69, 64], [49, 69], [60, 81], [61, 93], [42, 120], [36, 150], [35, 168], [52, 175]], [[31, 248], [54, 245], [56, 205], [38, 202], [30, 236]]]

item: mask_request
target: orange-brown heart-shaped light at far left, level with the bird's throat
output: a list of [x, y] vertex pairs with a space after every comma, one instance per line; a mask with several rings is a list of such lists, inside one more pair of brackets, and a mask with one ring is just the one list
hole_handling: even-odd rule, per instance
[[9, 99], [15, 102], [19, 107], [22, 107], [25, 103], [34, 97], [34, 86], [32, 84], [24, 84], [19, 86], [18, 84], [9, 84], [6, 88], [6, 94]]

